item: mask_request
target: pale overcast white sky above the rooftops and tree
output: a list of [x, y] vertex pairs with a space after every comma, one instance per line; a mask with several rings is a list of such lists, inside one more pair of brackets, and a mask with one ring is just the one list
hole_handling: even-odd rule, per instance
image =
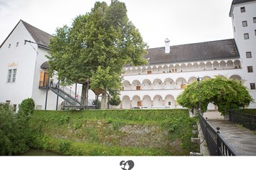
[[[105, 0], [110, 4], [110, 0]], [[128, 18], [150, 48], [233, 38], [229, 10], [232, 0], [120, 0]], [[19, 19], [54, 34], [79, 14], [91, 11], [95, 0], [0, 0], [0, 44]]]

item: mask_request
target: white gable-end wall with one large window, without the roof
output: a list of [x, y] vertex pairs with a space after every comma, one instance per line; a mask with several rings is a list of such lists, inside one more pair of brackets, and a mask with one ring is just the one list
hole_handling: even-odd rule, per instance
[[[11, 100], [12, 104], [19, 105], [25, 98], [32, 97], [37, 53], [30, 44], [24, 43], [25, 39], [32, 39], [32, 37], [22, 22], [19, 22], [0, 49], [0, 102]], [[9, 44], [11, 44], [10, 47]], [[36, 47], [35, 44], [32, 46]], [[17, 69], [15, 82], [7, 82], [9, 69]]]

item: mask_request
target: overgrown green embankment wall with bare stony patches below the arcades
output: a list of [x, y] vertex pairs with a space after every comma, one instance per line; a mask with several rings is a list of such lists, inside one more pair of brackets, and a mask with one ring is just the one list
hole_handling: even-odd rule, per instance
[[35, 110], [29, 123], [33, 147], [63, 155], [177, 156], [197, 150], [195, 121], [188, 110]]

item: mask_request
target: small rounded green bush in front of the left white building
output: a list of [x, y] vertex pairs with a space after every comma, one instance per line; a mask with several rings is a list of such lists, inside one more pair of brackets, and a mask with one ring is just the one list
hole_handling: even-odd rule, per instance
[[19, 105], [18, 115], [28, 116], [33, 113], [35, 109], [35, 102], [32, 98], [27, 98], [22, 100], [22, 103]]

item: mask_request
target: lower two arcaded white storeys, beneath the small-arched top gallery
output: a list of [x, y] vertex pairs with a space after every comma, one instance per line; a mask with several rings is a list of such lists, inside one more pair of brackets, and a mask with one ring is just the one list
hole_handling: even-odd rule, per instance
[[[213, 62], [213, 61], [211, 61]], [[242, 69], [224, 70], [202, 70], [190, 72], [168, 72], [149, 75], [124, 75], [123, 90], [120, 98], [123, 100], [122, 108], [132, 108], [141, 102], [141, 106], [167, 106], [170, 108], [181, 108], [175, 102], [182, 93], [181, 85], [187, 85], [197, 77], [214, 77], [224, 75], [225, 77], [242, 77]], [[141, 85], [141, 90], [136, 90], [136, 86]], [[121, 105], [119, 106], [121, 107]], [[209, 105], [210, 110], [214, 105]]]

